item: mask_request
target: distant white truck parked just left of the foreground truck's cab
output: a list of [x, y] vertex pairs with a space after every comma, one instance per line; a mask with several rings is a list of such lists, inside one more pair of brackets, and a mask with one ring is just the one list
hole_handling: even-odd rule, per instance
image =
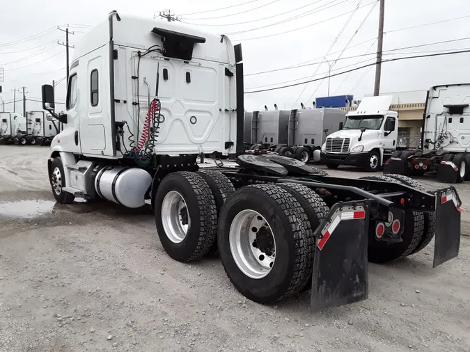
[[58, 134], [58, 123], [54, 122], [51, 117], [52, 115], [47, 111], [28, 111], [26, 113], [27, 143], [51, 145], [52, 138]]

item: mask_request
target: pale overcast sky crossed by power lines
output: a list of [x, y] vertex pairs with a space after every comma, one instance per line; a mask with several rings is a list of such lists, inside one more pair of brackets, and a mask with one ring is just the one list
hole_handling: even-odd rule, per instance
[[[385, 0], [383, 59], [470, 49], [467, 2], [446, 0], [443, 7], [428, 0]], [[41, 109], [40, 102], [34, 102], [40, 101], [41, 85], [65, 77], [65, 47], [57, 44], [65, 41], [65, 33], [56, 26], [69, 26], [73, 45], [111, 10], [153, 18], [166, 9], [182, 22], [242, 43], [246, 93], [319, 79], [246, 94], [248, 111], [265, 105], [273, 109], [274, 104], [280, 109], [298, 109], [301, 102], [312, 106], [315, 97], [328, 95], [328, 86], [330, 95], [360, 99], [373, 94], [375, 66], [330, 81], [324, 77], [330, 69], [337, 74], [375, 62], [378, 0], [81, 0], [79, 6], [70, 0], [16, 0], [5, 1], [0, 10], [0, 71], [3, 67], [4, 72], [0, 97], [5, 111], [13, 111], [13, 90], [23, 86], [26, 110]], [[437, 42], [445, 43], [428, 45]], [[73, 49], [70, 56], [72, 61]], [[464, 53], [383, 63], [380, 92], [422, 92], [439, 84], [468, 82], [469, 59], [470, 53]], [[285, 70], [296, 65], [301, 67]], [[276, 71], [266, 72], [272, 70]], [[407, 95], [408, 99], [421, 96]], [[17, 99], [21, 97], [16, 93]], [[400, 102], [413, 102], [406, 99]], [[56, 102], [65, 102], [65, 80], [56, 86]], [[58, 106], [60, 111], [64, 105]], [[16, 103], [16, 111], [22, 111], [22, 102]]]

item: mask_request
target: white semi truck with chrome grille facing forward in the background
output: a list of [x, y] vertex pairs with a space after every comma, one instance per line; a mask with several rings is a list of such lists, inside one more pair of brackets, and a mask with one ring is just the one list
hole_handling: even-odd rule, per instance
[[321, 160], [328, 168], [359, 166], [375, 171], [391, 157], [398, 137], [398, 113], [390, 111], [392, 95], [366, 97], [349, 111], [343, 129], [322, 145]]

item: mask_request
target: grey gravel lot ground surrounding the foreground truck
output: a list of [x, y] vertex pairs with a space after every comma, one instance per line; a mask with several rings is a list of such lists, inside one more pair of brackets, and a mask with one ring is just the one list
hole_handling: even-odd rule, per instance
[[432, 243], [370, 264], [366, 301], [312, 314], [307, 291], [263, 306], [219, 259], [170, 259], [150, 209], [56, 205], [47, 154], [0, 146], [0, 351], [470, 351], [470, 237], [436, 269]]

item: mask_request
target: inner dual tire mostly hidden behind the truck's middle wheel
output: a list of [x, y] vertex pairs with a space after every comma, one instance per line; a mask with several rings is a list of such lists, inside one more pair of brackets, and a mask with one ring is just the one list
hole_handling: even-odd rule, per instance
[[[217, 216], [220, 215], [220, 211], [222, 206], [224, 205], [225, 201], [227, 200], [233, 192], [235, 192], [235, 187], [233, 186], [230, 179], [226, 177], [226, 175], [219, 173], [218, 171], [212, 170], [200, 170], [197, 173], [210, 187], [210, 191], [212, 191], [212, 195], [214, 195], [215, 206], [217, 208]], [[210, 255], [218, 255], [219, 254], [219, 247], [217, 246], [217, 237], [214, 238], [214, 242], [210, 247], [209, 252], [206, 256]]]

